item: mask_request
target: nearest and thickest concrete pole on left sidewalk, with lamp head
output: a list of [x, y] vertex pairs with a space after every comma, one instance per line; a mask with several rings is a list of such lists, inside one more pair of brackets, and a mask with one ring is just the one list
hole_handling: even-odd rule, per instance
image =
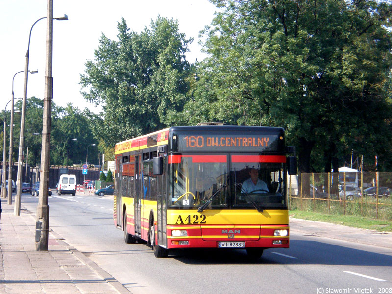
[[[39, 240], [36, 235], [35, 250], [48, 250], [49, 241], [49, 169], [50, 169], [50, 130], [51, 130], [51, 103], [53, 99], [53, 0], [48, 0], [47, 5], [47, 39], [46, 39], [46, 67], [45, 67], [45, 94], [44, 115], [42, 122], [42, 148], [41, 148], [41, 180], [40, 194], [37, 207], [36, 228], [40, 229]], [[68, 20], [57, 18], [57, 20]]]

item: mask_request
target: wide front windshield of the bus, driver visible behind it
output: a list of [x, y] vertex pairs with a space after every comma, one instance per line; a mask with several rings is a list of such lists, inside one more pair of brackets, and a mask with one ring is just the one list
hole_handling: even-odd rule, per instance
[[168, 207], [285, 209], [284, 162], [260, 154], [169, 155]]

